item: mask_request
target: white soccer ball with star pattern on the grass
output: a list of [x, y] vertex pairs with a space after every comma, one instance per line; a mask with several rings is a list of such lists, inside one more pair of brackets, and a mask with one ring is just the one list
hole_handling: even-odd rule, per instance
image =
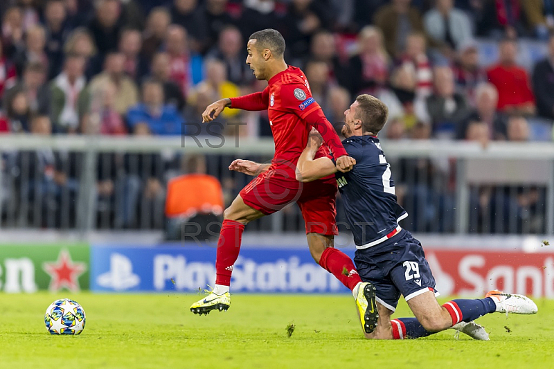
[[69, 298], [55, 300], [44, 314], [44, 323], [50, 334], [81, 334], [84, 321], [84, 309]]

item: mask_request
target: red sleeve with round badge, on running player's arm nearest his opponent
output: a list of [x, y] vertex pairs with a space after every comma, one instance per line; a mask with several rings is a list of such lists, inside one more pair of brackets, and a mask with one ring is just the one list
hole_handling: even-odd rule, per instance
[[333, 125], [325, 118], [323, 109], [314, 100], [312, 93], [304, 84], [283, 84], [280, 91], [280, 100], [283, 109], [299, 116], [307, 123], [307, 127], [314, 127], [319, 131], [323, 142], [330, 147], [335, 159], [348, 155], [339, 135], [334, 131]]

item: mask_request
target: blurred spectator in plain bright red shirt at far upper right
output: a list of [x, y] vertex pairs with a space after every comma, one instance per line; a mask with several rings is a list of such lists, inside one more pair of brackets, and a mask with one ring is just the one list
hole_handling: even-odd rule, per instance
[[529, 76], [516, 64], [517, 44], [504, 39], [500, 46], [499, 63], [488, 71], [488, 79], [499, 91], [498, 109], [509, 114], [535, 114], [535, 96], [531, 91]]

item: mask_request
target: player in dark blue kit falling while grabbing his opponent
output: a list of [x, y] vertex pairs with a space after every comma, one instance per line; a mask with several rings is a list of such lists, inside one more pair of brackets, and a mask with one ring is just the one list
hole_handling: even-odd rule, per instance
[[[357, 271], [361, 280], [377, 289], [375, 301], [371, 302], [377, 305], [377, 328], [370, 334], [365, 333], [366, 337], [418, 338], [462, 322], [470, 323], [492, 312], [535, 314], [537, 305], [532, 300], [501, 291], [490, 291], [481, 299], [456, 299], [442, 306], [438, 304], [435, 280], [422, 246], [398, 224], [408, 214], [397, 203], [391, 165], [386, 162], [377, 138], [388, 118], [388, 109], [379, 99], [360, 95], [344, 114], [343, 146], [356, 161], [353, 169], [337, 172], [330, 157], [314, 159], [321, 145], [321, 138], [314, 131], [298, 160], [296, 179], [309, 182], [336, 173], [346, 219], [356, 244]], [[400, 294], [415, 318], [391, 321]], [[481, 339], [488, 339], [486, 333]]]

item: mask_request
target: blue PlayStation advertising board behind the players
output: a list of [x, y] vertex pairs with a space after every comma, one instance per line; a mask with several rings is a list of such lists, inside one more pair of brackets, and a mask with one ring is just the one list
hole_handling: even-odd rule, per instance
[[[201, 246], [91, 247], [93, 291], [198, 291], [215, 282], [215, 251]], [[352, 256], [352, 255], [350, 255]], [[305, 249], [243, 248], [233, 292], [348, 292]]]

